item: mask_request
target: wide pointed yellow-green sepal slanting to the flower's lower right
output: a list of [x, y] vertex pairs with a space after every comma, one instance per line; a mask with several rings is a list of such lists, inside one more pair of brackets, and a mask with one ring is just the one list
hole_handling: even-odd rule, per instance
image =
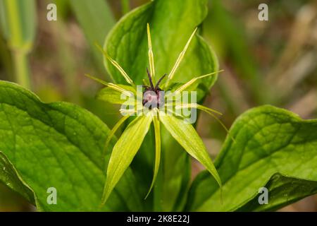
[[204, 143], [201, 141], [201, 138], [197, 134], [197, 131], [191, 124], [185, 124], [183, 119], [173, 117], [170, 115], [160, 115], [160, 120], [170, 134], [175, 138], [180, 145], [197, 159], [206, 169], [213, 175], [217, 183], [221, 188], [221, 180], [218, 175], [217, 169], [213, 165], [211, 158], [206, 150]]

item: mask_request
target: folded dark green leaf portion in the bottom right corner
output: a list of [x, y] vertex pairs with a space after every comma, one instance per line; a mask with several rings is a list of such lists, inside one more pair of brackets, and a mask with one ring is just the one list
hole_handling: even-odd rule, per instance
[[[274, 174], [265, 186], [268, 204], [260, 205], [258, 194], [237, 211], [273, 211], [317, 193], [317, 182]], [[261, 198], [261, 197], [260, 197]]]

